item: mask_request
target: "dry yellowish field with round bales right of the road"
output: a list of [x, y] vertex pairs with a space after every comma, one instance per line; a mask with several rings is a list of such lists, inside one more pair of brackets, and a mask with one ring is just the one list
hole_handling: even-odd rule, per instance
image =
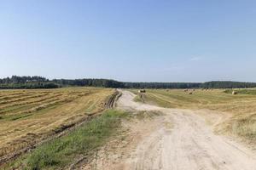
[[[137, 94], [137, 90], [132, 90]], [[218, 125], [222, 133], [235, 134], [247, 142], [255, 144], [256, 141], [256, 90], [237, 90], [237, 95], [232, 95], [223, 89], [195, 90], [192, 95], [183, 90], [147, 90], [140, 102], [160, 105], [167, 108], [182, 108], [218, 111], [230, 114], [230, 118]], [[141, 94], [140, 94], [141, 95]]]

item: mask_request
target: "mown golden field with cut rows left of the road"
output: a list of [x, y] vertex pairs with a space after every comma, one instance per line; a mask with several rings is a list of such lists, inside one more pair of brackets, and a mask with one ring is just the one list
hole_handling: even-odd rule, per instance
[[0, 90], [0, 157], [104, 110], [110, 88]]

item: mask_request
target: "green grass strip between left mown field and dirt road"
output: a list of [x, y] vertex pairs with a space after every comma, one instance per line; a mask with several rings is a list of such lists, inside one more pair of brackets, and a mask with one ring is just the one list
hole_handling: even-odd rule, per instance
[[124, 112], [106, 111], [67, 136], [42, 144], [10, 169], [61, 169], [78, 156], [90, 156], [116, 132], [120, 127], [121, 118], [125, 116]]

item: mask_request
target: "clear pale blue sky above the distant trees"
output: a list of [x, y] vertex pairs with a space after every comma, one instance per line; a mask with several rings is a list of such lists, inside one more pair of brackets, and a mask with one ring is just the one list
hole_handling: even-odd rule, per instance
[[256, 82], [255, 0], [0, 0], [0, 77]]

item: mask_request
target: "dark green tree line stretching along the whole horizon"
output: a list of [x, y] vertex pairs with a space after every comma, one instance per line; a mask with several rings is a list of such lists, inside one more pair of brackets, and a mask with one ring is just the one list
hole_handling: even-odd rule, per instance
[[0, 88], [61, 88], [68, 86], [102, 88], [256, 88], [255, 82], [118, 82], [109, 79], [53, 79], [45, 77], [6, 77]]

